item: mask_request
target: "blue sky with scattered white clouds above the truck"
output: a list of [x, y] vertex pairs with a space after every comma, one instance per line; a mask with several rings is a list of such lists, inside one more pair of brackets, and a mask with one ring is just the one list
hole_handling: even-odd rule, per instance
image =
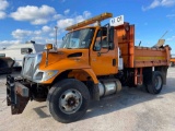
[[104, 12], [135, 24], [136, 46], [152, 47], [165, 34], [165, 45], [175, 53], [175, 0], [0, 0], [0, 48], [55, 43], [55, 26], [60, 44], [67, 26]]

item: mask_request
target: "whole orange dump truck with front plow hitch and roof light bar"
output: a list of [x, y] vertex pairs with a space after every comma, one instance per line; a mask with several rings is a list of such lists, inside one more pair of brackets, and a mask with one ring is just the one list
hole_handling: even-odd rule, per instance
[[[24, 57], [21, 78], [7, 76], [7, 103], [12, 115], [22, 114], [27, 102], [47, 100], [52, 118], [79, 120], [90, 99], [118, 93], [122, 85], [144, 84], [159, 94], [166, 83], [170, 47], [136, 47], [135, 25], [124, 15], [103, 13], [66, 29], [62, 45], [47, 44], [44, 52]], [[92, 25], [96, 23], [96, 25]]]

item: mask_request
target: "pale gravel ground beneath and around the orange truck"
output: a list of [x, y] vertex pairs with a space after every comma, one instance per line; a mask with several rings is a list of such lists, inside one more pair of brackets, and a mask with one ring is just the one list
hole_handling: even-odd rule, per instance
[[175, 68], [168, 69], [161, 94], [124, 87], [117, 95], [91, 103], [81, 120], [67, 124], [51, 118], [46, 103], [30, 102], [22, 115], [12, 116], [5, 105], [5, 75], [0, 75], [0, 131], [36, 130], [175, 131]]

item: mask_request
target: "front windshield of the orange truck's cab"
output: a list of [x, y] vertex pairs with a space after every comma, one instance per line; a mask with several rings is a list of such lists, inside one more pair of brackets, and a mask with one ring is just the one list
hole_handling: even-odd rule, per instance
[[94, 35], [94, 28], [83, 28], [68, 33], [60, 48], [89, 48]]

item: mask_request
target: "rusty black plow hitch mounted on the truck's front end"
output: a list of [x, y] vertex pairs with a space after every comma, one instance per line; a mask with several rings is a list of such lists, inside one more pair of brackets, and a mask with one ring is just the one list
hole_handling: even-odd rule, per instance
[[30, 88], [7, 75], [7, 105], [11, 106], [12, 115], [22, 114], [30, 100]]

